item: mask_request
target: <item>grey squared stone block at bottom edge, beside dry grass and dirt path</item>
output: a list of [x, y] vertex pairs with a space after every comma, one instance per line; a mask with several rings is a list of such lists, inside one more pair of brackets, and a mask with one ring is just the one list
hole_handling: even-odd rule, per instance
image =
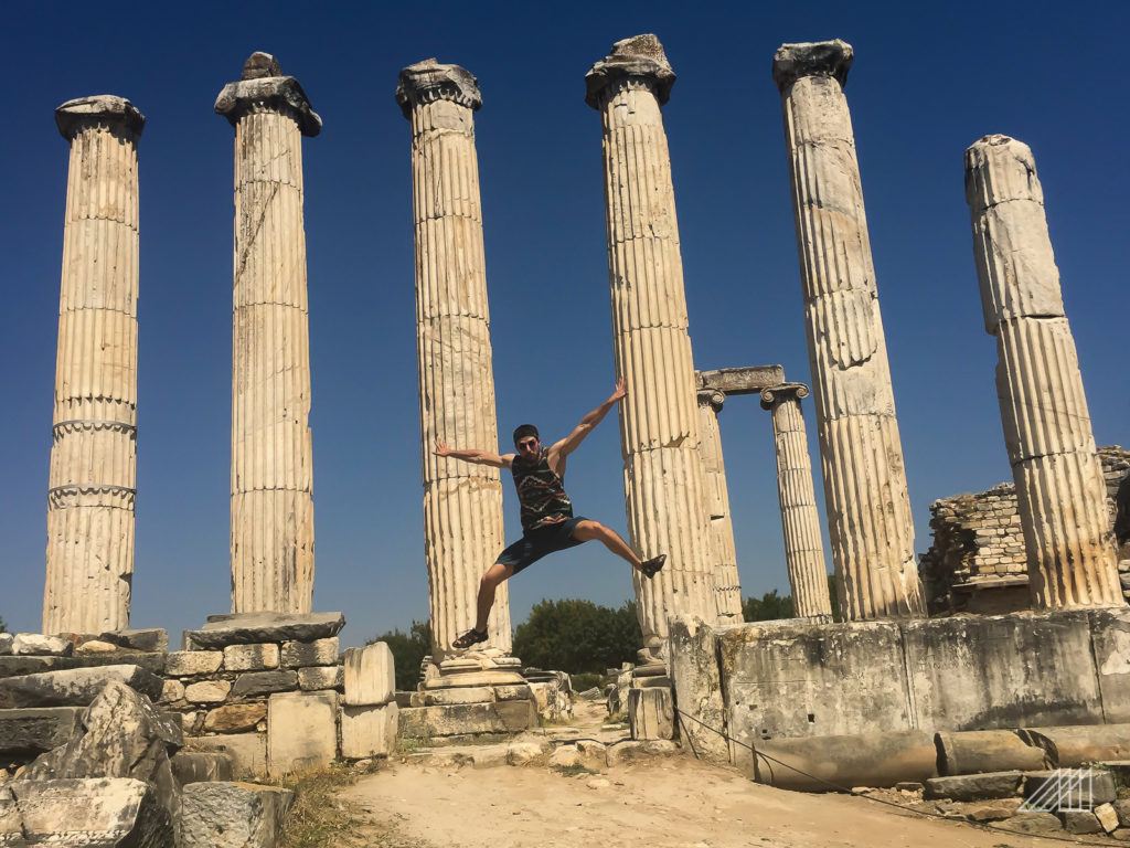
[[193, 784], [184, 789], [182, 848], [277, 848], [294, 793], [255, 784]]

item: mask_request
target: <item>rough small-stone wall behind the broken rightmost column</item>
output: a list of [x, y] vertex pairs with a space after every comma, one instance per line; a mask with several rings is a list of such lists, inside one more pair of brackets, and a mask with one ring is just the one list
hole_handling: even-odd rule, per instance
[[[1119, 572], [1130, 599], [1130, 450], [1098, 449], [1107, 509], [1119, 540]], [[1027, 609], [1028, 569], [1016, 487], [942, 497], [930, 504], [933, 542], [919, 570], [931, 614]]]

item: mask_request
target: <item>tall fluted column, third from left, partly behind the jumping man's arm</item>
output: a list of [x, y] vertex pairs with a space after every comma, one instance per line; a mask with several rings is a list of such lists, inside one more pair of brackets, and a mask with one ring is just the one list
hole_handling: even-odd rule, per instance
[[[434, 453], [436, 441], [498, 444], [475, 149], [473, 112], [483, 99], [467, 70], [427, 59], [400, 72], [397, 101], [412, 132], [424, 552], [438, 658], [475, 625], [479, 578], [504, 545], [498, 469]], [[490, 647], [510, 650], [505, 583], [488, 632]]]

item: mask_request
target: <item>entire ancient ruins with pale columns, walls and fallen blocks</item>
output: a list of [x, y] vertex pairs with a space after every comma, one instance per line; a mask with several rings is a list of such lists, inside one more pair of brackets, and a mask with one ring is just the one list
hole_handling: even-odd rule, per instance
[[[302, 148], [322, 122], [302, 86], [255, 52], [216, 101], [235, 131], [232, 607], [172, 649], [166, 631], [130, 628], [145, 119], [112, 95], [59, 106], [70, 164], [43, 632], [0, 633], [0, 845], [268, 848], [294, 797], [271, 784], [333, 763], [598, 772], [679, 753], [780, 788], [896, 787], [890, 803], [919, 812], [1130, 838], [1118, 789], [1130, 781], [1130, 452], [1095, 445], [1033, 154], [1001, 135], [965, 152], [1014, 478], [936, 501], [915, 562], [844, 94], [852, 61], [837, 40], [784, 44], [772, 62], [811, 387], [779, 365], [695, 362], [660, 41], [618, 41], [584, 77], [603, 128], [612, 365], [628, 387], [627, 525], [642, 556], [669, 560], [634, 578], [638, 661], [583, 694], [512, 655], [505, 586], [488, 642], [451, 647], [505, 538], [497, 469], [436, 453], [499, 441], [477, 79], [426, 59], [395, 87], [410, 126], [433, 633], [410, 691], [386, 644], [342, 651], [345, 616], [313, 609]], [[720, 423], [740, 396], [770, 414], [790, 620], [742, 622]], [[586, 703], [626, 724], [566, 726]], [[1033, 806], [1080, 767], [1085, 793], [1072, 784], [1068, 801]]]

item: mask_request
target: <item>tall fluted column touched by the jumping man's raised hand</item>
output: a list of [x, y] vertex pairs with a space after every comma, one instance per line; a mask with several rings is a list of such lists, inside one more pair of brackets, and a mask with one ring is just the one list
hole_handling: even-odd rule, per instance
[[619, 409], [628, 529], [642, 557], [668, 557], [654, 579], [633, 577], [644, 648], [654, 658], [668, 616], [718, 617], [679, 227], [660, 112], [675, 73], [659, 40], [638, 35], [614, 44], [585, 83], [585, 102], [603, 123], [612, 348], [628, 390]]

